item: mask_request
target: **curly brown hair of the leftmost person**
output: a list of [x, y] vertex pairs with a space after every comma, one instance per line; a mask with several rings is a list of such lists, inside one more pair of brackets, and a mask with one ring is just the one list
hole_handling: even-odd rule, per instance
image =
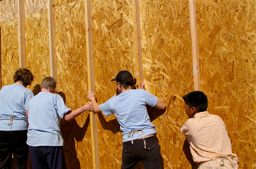
[[31, 82], [34, 80], [34, 76], [28, 69], [18, 69], [13, 76], [15, 82], [21, 81], [24, 87], [31, 85]]

